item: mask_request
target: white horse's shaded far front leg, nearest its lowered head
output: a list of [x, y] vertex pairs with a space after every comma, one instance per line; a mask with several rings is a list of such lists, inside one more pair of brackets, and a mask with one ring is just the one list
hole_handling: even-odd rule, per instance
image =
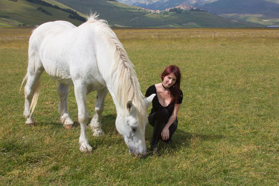
[[100, 122], [100, 118], [102, 116], [102, 112], [104, 109], [105, 96], [107, 95], [107, 93], [108, 93], [107, 88], [104, 88], [103, 90], [98, 91], [97, 93], [95, 114], [90, 122], [90, 127], [94, 137], [98, 137], [104, 134], [102, 130], [102, 123]]

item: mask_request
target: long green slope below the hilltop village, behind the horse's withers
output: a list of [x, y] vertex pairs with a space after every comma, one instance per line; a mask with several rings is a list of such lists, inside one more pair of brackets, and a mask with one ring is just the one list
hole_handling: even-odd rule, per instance
[[[123, 3], [114, 1], [99, 1], [99, 0], [58, 0], [76, 10], [89, 14], [90, 12], [98, 12], [100, 17], [107, 20], [109, 24], [136, 26], [136, 27], [188, 27], [188, 26], [259, 26], [258, 24], [250, 24], [244, 22], [234, 22], [227, 18], [212, 15], [206, 12], [189, 12], [185, 11], [181, 14], [177, 13], [160, 13], [151, 14], [144, 10], [140, 10], [134, 6], [127, 6]], [[195, 24], [193, 24], [195, 22]], [[190, 24], [189, 24], [190, 23]]]

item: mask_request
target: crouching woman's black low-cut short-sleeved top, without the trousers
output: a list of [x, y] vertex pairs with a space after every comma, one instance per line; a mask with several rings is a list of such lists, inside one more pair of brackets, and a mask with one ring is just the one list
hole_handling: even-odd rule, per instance
[[[152, 114], [153, 112], [156, 112], [156, 111], [158, 111], [162, 108], [166, 108], [169, 111], [169, 113], [172, 113], [174, 111], [174, 101], [170, 102], [169, 105], [167, 105], [167, 107], [163, 107], [160, 104], [160, 102], [158, 100], [158, 97], [157, 97], [157, 91], [156, 91], [155, 84], [153, 84], [153, 85], [149, 86], [149, 88], [147, 88], [147, 91], [145, 93], [145, 97], [147, 98], [147, 97], [149, 97], [149, 95], [151, 95], [153, 93], [155, 93], [156, 96], [152, 100], [152, 109], [151, 109], [150, 114]], [[179, 90], [179, 94], [180, 94], [180, 96], [179, 96], [179, 99], [177, 100], [176, 104], [181, 104], [181, 102], [183, 100], [183, 93], [182, 93], [181, 90]]]

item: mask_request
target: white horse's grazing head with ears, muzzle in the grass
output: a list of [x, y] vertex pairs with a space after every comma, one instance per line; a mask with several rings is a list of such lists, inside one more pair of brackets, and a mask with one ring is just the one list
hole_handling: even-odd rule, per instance
[[[144, 108], [145, 112], [155, 95], [150, 95], [149, 98], [144, 100], [146, 104]], [[147, 114], [143, 118], [139, 118], [140, 114], [137, 113], [138, 110], [131, 100], [127, 102], [126, 107], [126, 114], [117, 115], [116, 129], [123, 136], [132, 155], [145, 155], [144, 132], [147, 123]]]

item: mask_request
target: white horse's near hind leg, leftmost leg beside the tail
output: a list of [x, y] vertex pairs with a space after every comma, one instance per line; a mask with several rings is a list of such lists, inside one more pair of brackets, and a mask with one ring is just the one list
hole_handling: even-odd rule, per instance
[[[36, 102], [33, 103], [33, 96], [34, 93], [36, 93], [40, 86], [40, 75], [42, 74], [43, 70], [38, 70], [36, 72], [27, 72], [27, 84], [24, 87], [24, 95], [25, 95], [25, 103], [24, 103], [24, 112], [23, 115], [27, 119], [26, 125], [35, 125], [35, 121], [33, 119], [32, 113], [31, 113], [31, 107], [36, 106]], [[36, 93], [35, 96], [38, 96], [38, 93]], [[35, 99], [36, 100], [36, 99]], [[33, 106], [31, 105], [33, 104]], [[32, 109], [33, 111], [33, 109]]]

